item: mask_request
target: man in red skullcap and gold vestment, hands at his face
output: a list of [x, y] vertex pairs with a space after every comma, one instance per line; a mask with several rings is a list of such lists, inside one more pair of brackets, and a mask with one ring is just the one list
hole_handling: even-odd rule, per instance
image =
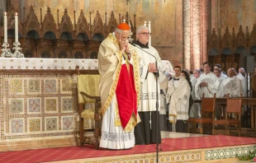
[[99, 91], [102, 100], [100, 147], [135, 146], [134, 128], [140, 91], [139, 58], [128, 44], [130, 26], [121, 23], [102, 41], [98, 52]]

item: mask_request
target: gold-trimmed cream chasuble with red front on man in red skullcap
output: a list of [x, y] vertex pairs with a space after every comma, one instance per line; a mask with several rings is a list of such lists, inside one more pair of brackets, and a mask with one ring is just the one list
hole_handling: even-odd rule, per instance
[[[140, 91], [139, 58], [129, 44], [130, 60], [122, 53], [114, 34], [102, 41], [98, 52], [98, 71], [101, 75], [99, 91], [102, 116], [115, 101], [115, 126], [131, 132], [137, 124], [137, 107]], [[116, 98], [116, 99], [114, 99]]]

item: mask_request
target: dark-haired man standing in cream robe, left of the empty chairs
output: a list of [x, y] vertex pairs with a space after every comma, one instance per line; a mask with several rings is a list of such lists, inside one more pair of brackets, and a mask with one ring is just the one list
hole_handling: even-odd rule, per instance
[[181, 68], [174, 67], [175, 75], [168, 81], [167, 101], [169, 102], [169, 122], [173, 123], [173, 131], [187, 133], [188, 106], [190, 86], [185, 77], [181, 76]]

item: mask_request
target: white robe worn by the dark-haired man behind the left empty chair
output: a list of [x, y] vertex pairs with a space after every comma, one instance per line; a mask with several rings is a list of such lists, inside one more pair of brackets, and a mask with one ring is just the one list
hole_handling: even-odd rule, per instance
[[[201, 82], [206, 82], [207, 86], [200, 87]], [[219, 85], [220, 81], [213, 72], [201, 74], [195, 86], [197, 98], [201, 98], [202, 94], [205, 94], [205, 97], [213, 97], [219, 91]]]

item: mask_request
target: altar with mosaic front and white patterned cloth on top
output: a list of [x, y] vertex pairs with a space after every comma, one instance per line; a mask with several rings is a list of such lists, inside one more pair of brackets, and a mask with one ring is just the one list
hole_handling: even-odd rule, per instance
[[[0, 58], [0, 151], [75, 146], [77, 68], [98, 73], [97, 64], [97, 59]], [[173, 68], [168, 61], [162, 65]]]

